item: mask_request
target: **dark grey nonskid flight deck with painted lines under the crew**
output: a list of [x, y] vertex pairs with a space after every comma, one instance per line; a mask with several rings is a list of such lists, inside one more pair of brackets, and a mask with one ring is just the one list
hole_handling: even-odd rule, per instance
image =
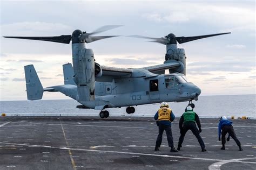
[[[178, 119], [172, 123], [174, 145]], [[178, 153], [166, 135], [154, 151], [158, 128], [152, 118], [1, 117], [0, 169], [255, 169], [256, 120], [233, 120], [244, 151], [233, 139], [220, 150], [218, 119], [201, 119], [201, 152], [189, 131]]]

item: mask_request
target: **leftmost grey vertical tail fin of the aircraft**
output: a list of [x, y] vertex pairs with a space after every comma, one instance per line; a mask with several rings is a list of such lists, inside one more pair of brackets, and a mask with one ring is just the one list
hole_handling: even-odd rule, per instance
[[24, 66], [26, 77], [26, 95], [28, 100], [39, 100], [42, 98], [44, 89], [37, 76], [33, 65]]

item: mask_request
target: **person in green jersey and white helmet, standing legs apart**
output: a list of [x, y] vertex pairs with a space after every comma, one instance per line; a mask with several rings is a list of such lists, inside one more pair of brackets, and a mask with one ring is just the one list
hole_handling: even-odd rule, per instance
[[[196, 125], [196, 123], [197, 123], [197, 125]], [[197, 126], [198, 126], [199, 130], [197, 129]], [[180, 137], [179, 137], [179, 143], [178, 143], [178, 148], [177, 148], [178, 151], [180, 151], [180, 147], [182, 147], [182, 143], [185, 138], [185, 134], [188, 130], [191, 130], [192, 133], [194, 134], [194, 136], [197, 137], [197, 140], [201, 146], [201, 151], [202, 152], [206, 151], [204, 141], [199, 134], [202, 131], [200, 119], [199, 119], [198, 115], [196, 114], [196, 112], [194, 112], [193, 109], [191, 108], [191, 106], [189, 106], [189, 105], [186, 107], [185, 112], [180, 117], [179, 129], [180, 129]]]

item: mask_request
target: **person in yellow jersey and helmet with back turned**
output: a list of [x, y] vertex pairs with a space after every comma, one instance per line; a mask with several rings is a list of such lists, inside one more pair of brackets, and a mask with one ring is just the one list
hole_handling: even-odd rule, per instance
[[167, 141], [169, 147], [171, 147], [170, 152], [178, 152], [173, 145], [173, 137], [172, 137], [172, 126], [171, 122], [174, 120], [175, 116], [172, 110], [169, 108], [168, 103], [163, 102], [161, 103], [160, 109], [158, 109], [156, 115], [154, 115], [154, 119], [157, 121], [158, 125], [158, 136], [156, 141], [156, 147], [154, 148], [155, 151], [159, 151], [159, 147], [162, 142], [163, 132], [165, 130]]

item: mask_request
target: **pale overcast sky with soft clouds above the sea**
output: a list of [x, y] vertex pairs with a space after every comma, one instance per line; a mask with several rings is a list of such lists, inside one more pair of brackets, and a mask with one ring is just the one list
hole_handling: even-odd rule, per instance
[[[80, 29], [123, 25], [99, 35], [121, 35], [87, 44], [100, 65], [140, 68], [163, 63], [166, 47], [125, 37], [224, 36], [178, 44], [185, 48], [187, 78], [201, 95], [255, 94], [255, 1], [0, 1], [0, 100], [26, 100], [25, 65], [33, 64], [43, 87], [63, 84], [62, 65], [71, 45], [5, 39], [2, 36], [60, 36]], [[67, 98], [44, 93], [43, 99]]]

